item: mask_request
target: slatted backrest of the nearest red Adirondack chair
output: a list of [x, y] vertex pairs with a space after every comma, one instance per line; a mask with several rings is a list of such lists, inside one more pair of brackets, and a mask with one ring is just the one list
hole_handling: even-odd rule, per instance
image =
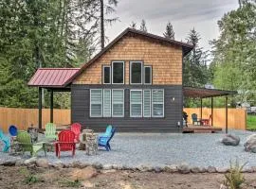
[[63, 130], [58, 135], [58, 142], [65, 142], [69, 144], [62, 144], [60, 143], [61, 149], [60, 150], [68, 150], [72, 149], [72, 144], [75, 143], [76, 134], [71, 130]]

